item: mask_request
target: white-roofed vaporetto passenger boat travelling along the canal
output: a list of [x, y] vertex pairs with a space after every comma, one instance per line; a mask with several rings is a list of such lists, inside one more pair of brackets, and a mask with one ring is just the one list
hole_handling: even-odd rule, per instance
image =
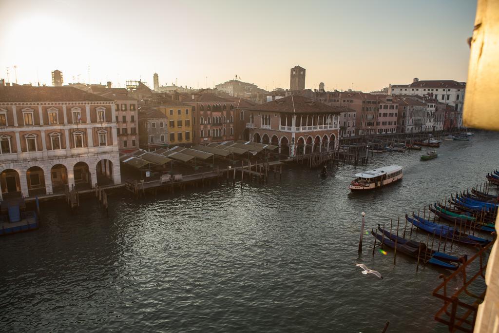
[[403, 176], [400, 165], [389, 165], [355, 174], [356, 178], [348, 188], [352, 191], [372, 190], [396, 182]]

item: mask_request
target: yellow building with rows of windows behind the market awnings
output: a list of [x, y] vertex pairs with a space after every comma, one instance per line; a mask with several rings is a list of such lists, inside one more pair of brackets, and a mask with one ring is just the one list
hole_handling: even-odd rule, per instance
[[168, 117], [170, 147], [191, 145], [193, 139], [192, 106], [179, 101], [170, 101], [156, 108]]

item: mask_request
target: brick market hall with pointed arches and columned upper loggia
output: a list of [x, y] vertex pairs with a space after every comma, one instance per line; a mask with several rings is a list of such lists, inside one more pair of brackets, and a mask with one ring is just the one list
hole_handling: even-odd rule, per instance
[[270, 143], [289, 156], [334, 150], [338, 145], [339, 115], [345, 107], [330, 106], [301, 95], [290, 95], [242, 111], [245, 137]]

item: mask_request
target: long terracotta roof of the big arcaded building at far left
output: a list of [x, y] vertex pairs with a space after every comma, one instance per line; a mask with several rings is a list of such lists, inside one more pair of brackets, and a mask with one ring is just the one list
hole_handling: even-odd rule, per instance
[[0, 102], [111, 101], [74, 87], [0, 86]]

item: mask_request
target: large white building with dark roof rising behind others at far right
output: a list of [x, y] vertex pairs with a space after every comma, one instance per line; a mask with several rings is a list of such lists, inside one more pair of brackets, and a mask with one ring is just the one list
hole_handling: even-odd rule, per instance
[[414, 78], [410, 84], [390, 84], [390, 95], [420, 95], [435, 98], [446, 103], [458, 111], [459, 126], [462, 126], [463, 102], [466, 91], [466, 82], [454, 80], [419, 80]]

